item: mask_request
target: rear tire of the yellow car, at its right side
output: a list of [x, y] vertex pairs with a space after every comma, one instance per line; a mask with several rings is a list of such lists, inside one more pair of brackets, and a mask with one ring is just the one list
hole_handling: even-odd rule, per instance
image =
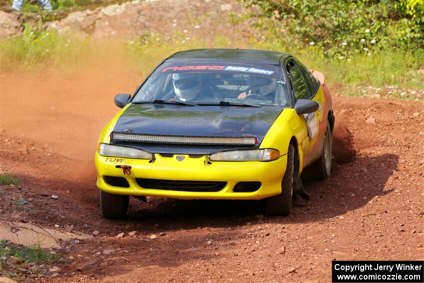
[[327, 129], [324, 134], [324, 143], [322, 145], [321, 156], [315, 161], [308, 170], [313, 174], [314, 180], [325, 180], [331, 173], [333, 135], [331, 134], [330, 123], [327, 122]]

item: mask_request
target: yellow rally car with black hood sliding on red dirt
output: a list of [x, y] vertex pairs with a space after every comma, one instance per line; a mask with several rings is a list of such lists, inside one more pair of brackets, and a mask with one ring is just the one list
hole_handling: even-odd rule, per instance
[[103, 217], [129, 197], [260, 200], [288, 215], [312, 165], [331, 170], [334, 115], [324, 76], [272, 51], [197, 49], [161, 62], [104, 127], [95, 156]]

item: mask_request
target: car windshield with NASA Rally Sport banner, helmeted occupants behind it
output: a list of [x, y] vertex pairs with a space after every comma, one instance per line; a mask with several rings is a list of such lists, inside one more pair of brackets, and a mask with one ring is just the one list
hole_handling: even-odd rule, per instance
[[275, 66], [164, 63], [138, 90], [132, 103], [288, 106], [285, 81]]

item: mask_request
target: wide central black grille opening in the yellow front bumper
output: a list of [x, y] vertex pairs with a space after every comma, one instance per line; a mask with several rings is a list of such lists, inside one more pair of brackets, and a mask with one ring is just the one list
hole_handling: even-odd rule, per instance
[[214, 181], [175, 181], [160, 179], [136, 178], [137, 184], [145, 189], [185, 191], [185, 192], [218, 192], [222, 190], [226, 182]]

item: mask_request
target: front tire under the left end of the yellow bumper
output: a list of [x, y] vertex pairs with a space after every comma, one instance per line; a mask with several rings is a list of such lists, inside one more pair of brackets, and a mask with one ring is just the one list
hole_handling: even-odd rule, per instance
[[130, 196], [113, 195], [100, 190], [100, 209], [104, 218], [121, 219], [127, 215]]

